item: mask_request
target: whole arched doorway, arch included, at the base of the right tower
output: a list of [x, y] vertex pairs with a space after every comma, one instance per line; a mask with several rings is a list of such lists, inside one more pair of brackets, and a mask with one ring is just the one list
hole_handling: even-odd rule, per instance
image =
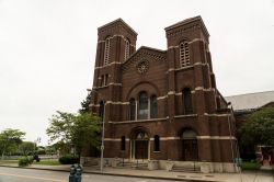
[[182, 139], [182, 159], [184, 161], [198, 160], [197, 136], [192, 129], [186, 129], [181, 135]]

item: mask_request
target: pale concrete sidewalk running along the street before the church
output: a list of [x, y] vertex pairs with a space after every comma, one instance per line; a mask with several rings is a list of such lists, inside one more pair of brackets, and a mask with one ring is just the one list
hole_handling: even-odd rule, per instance
[[[0, 164], [0, 167], [19, 168], [16, 164]], [[30, 169], [54, 170], [69, 172], [70, 166], [39, 166], [32, 164]], [[83, 173], [123, 175], [135, 178], [149, 178], [159, 180], [174, 181], [208, 181], [208, 182], [241, 182], [239, 173], [189, 173], [189, 172], [168, 172], [165, 170], [138, 170], [138, 169], [115, 169], [104, 168], [103, 173], [99, 169], [84, 167]], [[242, 182], [274, 182], [273, 171], [247, 171], [242, 173]]]

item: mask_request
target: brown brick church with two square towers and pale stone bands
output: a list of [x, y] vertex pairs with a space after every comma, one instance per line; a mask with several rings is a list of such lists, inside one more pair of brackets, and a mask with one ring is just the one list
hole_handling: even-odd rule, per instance
[[201, 16], [164, 31], [167, 49], [136, 50], [122, 19], [98, 29], [90, 111], [105, 117], [104, 157], [233, 172], [235, 118], [216, 87], [209, 33]]

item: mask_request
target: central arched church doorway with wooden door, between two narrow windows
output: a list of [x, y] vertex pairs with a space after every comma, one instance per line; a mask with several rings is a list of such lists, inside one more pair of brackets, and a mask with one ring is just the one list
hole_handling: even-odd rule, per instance
[[148, 159], [149, 137], [145, 132], [137, 132], [132, 139], [132, 158]]

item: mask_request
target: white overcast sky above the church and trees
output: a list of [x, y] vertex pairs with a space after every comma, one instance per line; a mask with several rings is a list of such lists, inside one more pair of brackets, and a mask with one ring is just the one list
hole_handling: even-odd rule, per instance
[[91, 88], [96, 29], [122, 18], [141, 45], [202, 15], [225, 95], [274, 90], [274, 0], [0, 0], [0, 130], [42, 137], [55, 111], [77, 112]]

